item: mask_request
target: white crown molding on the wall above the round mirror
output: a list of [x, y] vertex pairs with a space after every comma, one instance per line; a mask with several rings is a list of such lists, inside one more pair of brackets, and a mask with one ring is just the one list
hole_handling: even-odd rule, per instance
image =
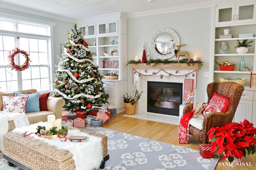
[[183, 6], [175, 6], [175, 7], [169, 7], [169, 8], [162, 8], [162, 9], [158, 9], [158, 10], [130, 13], [130, 14], [127, 14], [127, 18], [135, 18], [135, 17], [142, 17], [142, 16], [148, 16], [148, 15], [195, 10], [195, 9], [207, 8], [207, 7], [213, 7], [213, 6], [215, 6], [215, 5], [213, 5], [211, 2], [190, 4], [190, 5], [183, 5]]

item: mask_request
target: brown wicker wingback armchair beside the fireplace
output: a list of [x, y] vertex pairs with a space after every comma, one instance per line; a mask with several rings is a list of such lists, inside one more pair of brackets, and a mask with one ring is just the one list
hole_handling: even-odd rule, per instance
[[[230, 105], [226, 113], [213, 112], [206, 115], [203, 119], [203, 129], [199, 130], [189, 125], [189, 134], [194, 136], [200, 143], [208, 143], [208, 131], [212, 127], [221, 127], [223, 123], [231, 123], [236, 112], [238, 103], [242, 96], [244, 87], [234, 82], [212, 82], [207, 86], [208, 103], [214, 92], [230, 98]], [[189, 112], [193, 104], [188, 104], [183, 109], [183, 114]]]

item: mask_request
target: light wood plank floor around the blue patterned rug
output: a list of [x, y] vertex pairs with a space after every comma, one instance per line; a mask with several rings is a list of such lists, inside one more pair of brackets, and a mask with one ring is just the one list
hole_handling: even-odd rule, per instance
[[[178, 145], [186, 148], [191, 148], [199, 151], [199, 142], [193, 137], [189, 137], [189, 142], [187, 145], [179, 144], [178, 139], [178, 125], [168, 124], [168, 123], [160, 123], [155, 121], [148, 121], [136, 118], [130, 118], [123, 116], [125, 112], [117, 114], [117, 116], [111, 116], [111, 118], [106, 121], [102, 128], [111, 129], [123, 133], [128, 133], [136, 136], [141, 136], [144, 138], [150, 138], [154, 140], [158, 140], [161, 142], [171, 143], [173, 145]], [[223, 155], [222, 155], [223, 156]], [[221, 158], [222, 158], [221, 156]], [[223, 166], [222, 163], [227, 163], [226, 160], [219, 159], [220, 164], [215, 167], [215, 170], [227, 170], [227, 169], [236, 169], [236, 170], [255, 170], [256, 169], [256, 154], [247, 155], [242, 158], [242, 162], [251, 163], [251, 167], [248, 166]], [[196, 168], [196, 167], [195, 167]]]

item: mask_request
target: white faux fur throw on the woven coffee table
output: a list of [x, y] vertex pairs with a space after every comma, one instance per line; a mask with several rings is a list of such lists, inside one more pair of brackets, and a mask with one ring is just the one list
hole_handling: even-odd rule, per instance
[[[29, 134], [36, 132], [37, 126], [45, 126], [46, 124], [47, 122], [39, 122], [31, 124], [30, 126], [15, 128], [12, 132], [22, 134], [28, 132], [27, 134]], [[35, 134], [31, 134], [29, 136], [41, 140], [48, 145], [55, 146], [57, 149], [68, 150], [73, 154], [72, 158], [74, 159], [76, 170], [98, 169], [100, 167], [101, 161], [103, 160], [103, 147], [101, 143], [102, 139], [100, 137], [83, 133], [79, 130], [68, 130], [66, 137], [74, 135], [85, 135], [89, 138], [85, 140], [87, 142], [62, 142], [60, 140], [63, 140], [64, 138], [55, 138], [56, 140], [49, 140], [43, 137], [39, 137]]]

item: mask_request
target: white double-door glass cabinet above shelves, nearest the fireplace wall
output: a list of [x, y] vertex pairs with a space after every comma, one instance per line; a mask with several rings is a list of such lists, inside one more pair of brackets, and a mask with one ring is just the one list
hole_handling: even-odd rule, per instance
[[118, 34], [118, 21], [97, 23], [97, 36]]

